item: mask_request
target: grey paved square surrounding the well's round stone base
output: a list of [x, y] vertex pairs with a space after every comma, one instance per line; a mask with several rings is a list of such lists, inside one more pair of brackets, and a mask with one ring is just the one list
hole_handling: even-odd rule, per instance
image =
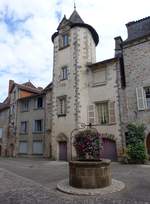
[[57, 191], [67, 178], [65, 162], [0, 159], [0, 204], [149, 204], [150, 165], [112, 164], [113, 178], [126, 188], [104, 196], [73, 196]]

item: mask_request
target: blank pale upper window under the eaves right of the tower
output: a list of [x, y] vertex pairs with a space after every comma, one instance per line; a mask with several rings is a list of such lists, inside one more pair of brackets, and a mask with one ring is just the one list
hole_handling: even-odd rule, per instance
[[106, 84], [106, 68], [100, 68], [93, 71], [93, 85]]

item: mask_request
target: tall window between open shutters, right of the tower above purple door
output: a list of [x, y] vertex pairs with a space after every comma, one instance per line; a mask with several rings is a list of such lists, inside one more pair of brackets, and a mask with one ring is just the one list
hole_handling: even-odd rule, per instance
[[97, 104], [98, 123], [105, 125], [109, 123], [108, 102]]

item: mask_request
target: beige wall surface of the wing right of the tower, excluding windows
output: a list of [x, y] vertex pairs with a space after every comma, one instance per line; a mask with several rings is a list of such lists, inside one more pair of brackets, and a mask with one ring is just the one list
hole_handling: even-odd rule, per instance
[[[98, 124], [96, 128], [100, 133], [114, 135], [114, 139], [117, 144], [118, 156], [122, 151], [122, 138], [120, 133], [120, 118], [119, 118], [119, 106], [118, 106], [118, 89], [117, 89], [117, 64], [118, 62], [106, 63], [105, 65], [100, 65], [98, 70], [106, 69], [106, 82], [94, 86], [92, 78], [92, 69], [89, 71], [89, 99], [88, 105], [95, 105], [95, 124]], [[98, 114], [96, 109], [96, 103], [98, 102], [115, 102], [115, 123], [108, 125], [100, 125], [98, 123]]]

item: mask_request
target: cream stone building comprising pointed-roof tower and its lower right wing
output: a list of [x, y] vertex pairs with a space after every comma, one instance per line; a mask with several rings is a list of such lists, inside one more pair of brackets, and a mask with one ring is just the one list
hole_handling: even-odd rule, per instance
[[[96, 125], [103, 134], [103, 157], [116, 159], [122, 151], [117, 67], [113, 58], [96, 63], [99, 42], [93, 27], [76, 10], [53, 34], [52, 156], [71, 156], [71, 132], [82, 124]], [[71, 148], [71, 149], [70, 149]]]

